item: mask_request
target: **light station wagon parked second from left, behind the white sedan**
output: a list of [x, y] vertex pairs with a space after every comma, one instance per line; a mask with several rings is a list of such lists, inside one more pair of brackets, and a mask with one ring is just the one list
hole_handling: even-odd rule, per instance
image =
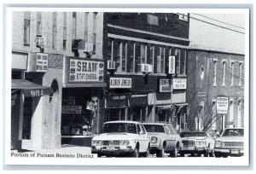
[[163, 157], [167, 153], [171, 157], [177, 157], [177, 151], [182, 142], [172, 125], [164, 123], [144, 123], [143, 125], [150, 136], [150, 154]]

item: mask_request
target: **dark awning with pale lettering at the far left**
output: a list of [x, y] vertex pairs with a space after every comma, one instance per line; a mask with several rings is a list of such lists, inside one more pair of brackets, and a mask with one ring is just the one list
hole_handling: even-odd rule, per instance
[[50, 87], [34, 84], [26, 79], [12, 79], [12, 90], [21, 90], [24, 96], [44, 96], [53, 94]]

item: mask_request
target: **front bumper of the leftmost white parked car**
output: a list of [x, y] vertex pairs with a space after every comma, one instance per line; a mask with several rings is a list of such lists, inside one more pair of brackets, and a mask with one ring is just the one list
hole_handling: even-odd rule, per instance
[[100, 155], [122, 155], [129, 154], [134, 150], [131, 146], [127, 147], [91, 147], [91, 154], [100, 154]]

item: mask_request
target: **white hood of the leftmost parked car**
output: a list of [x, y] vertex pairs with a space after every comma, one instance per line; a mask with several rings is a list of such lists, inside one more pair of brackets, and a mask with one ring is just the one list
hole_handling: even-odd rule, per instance
[[137, 138], [137, 134], [131, 133], [104, 133], [94, 136], [92, 140], [131, 140]]

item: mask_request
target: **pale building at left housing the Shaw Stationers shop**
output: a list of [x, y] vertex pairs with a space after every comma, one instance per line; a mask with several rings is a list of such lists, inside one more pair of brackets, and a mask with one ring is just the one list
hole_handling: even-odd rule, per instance
[[[98, 131], [106, 85], [102, 16], [13, 12], [11, 148], [60, 148], [61, 135], [82, 136], [82, 125]], [[88, 103], [94, 106], [86, 109]]]

